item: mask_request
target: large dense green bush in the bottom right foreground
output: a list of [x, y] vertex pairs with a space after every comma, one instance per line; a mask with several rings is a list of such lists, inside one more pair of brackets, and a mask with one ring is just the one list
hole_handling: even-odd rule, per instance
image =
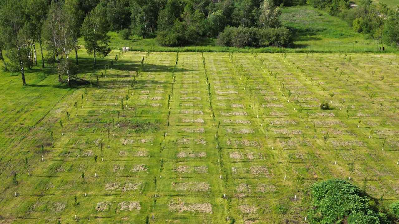
[[358, 187], [340, 179], [331, 179], [312, 185], [311, 209], [308, 211], [312, 224], [388, 224], [383, 213], [376, 212], [375, 202]]

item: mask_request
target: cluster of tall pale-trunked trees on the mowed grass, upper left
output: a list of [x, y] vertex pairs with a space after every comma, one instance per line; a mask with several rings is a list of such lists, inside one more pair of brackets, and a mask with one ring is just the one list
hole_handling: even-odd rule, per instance
[[[110, 37], [110, 26], [104, 17], [105, 6], [96, 4], [86, 8], [80, 0], [4, 0], [0, 3], [0, 59], [4, 69], [20, 71], [22, 83], [26, 85], [25, 69], [38, 64], [37, 44], [40, 48], [41, 66], [57, 64], [59, 82], [80, 80], [75, 74], [71, 53], [75, 53], [75, 64], [79, 63], [77, 40], [83, 36], [85, 48], [96, 57], [106, 56]], [[89, 10], [89, 12], [85, 12]], [[43, 48], [47, 54], [43, 54]], [[3, 49], [7, 61], [4, 60]], [[64, 78], [66, 77], [66, 78]]]

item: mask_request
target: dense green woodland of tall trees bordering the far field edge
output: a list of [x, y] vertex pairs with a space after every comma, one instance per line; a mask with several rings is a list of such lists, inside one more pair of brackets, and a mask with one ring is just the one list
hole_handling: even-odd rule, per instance
[[[222, 46], [287, 47], [292, 31], [280, 22], [281, 7], [310, 4], [347, 21], [354, 30], [399, 45], [399, 6], [361, 0], [3, 0], [0, 3], [0, 59], [4, 69], [37, 65], [37, 54], [49, 52], [47, 63], [57, 64], [59, 80], [67, 82], [78, 64], [77, 41], [96, 58], [108, 55], [109, 31], [124, 39], [156, 38], [163, 46], [199, 43], [217, 38]], [[5, 49], [6, 53], [2, 50]], [[71, 63], [71, 54], [75, 63]], [[4, 61], [4, 56], [9, 60]], [[42, 61], [44, 67], [44, 60]]]

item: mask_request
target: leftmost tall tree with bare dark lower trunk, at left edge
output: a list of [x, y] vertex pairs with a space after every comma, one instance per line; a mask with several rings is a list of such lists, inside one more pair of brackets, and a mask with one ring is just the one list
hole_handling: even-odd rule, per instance
[[[28, 43], [24, 38], [24, 11], [20, 1], [4, 0], [0, 3], [0, 39], [7, 49], [7, 55], [14, 65], [18, 65], [21, 72], [22, 84], [25, 81], [25, 66], [29, 64], [25, 59], [28, 58]], [[30, 66], [30, 65], [28, 65]]]

